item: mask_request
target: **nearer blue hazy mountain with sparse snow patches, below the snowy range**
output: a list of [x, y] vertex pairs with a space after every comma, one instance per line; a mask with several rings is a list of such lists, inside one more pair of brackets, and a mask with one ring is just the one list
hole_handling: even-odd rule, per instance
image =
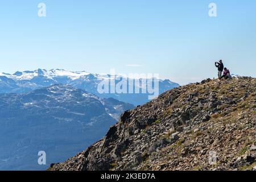
[[0, 94], [0, 170], [45, 170], [102, 138], [134, 105], [69, 85]]

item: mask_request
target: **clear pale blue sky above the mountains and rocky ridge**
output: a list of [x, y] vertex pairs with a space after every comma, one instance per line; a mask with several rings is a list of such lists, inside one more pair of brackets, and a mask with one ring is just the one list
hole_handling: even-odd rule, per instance
[[0, 3], [0, 23], [0, 72], [115, 68], [187, 84], [216, 77], [222, 59], [232, 73], [256, 76], [255, 0], [9, 0]]

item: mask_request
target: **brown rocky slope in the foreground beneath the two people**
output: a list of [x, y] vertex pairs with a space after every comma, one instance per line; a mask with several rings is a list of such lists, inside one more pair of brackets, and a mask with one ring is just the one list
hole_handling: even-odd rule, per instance
[[254, 170], [256, 78], [203, 80], [125, 111], [52, 170]]

